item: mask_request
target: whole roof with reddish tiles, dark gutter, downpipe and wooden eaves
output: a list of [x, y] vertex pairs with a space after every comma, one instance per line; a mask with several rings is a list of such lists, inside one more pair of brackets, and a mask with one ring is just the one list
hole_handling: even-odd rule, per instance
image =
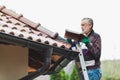
[[[39, 23], [19, 15], [5, 6], [0, 6], [0, 43], [20, 45], [29, 48], [28, 66], [32, 74], [20, 80], [32, 80], [41, 74], [59, 72], [78, 52], [70, 44]], [[35, 71], [35, 72], [34, 72]]]

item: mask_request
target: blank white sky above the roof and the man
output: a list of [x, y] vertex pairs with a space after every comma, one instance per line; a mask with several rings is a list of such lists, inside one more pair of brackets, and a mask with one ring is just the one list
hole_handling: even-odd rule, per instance
[[66, 29], [81, 32], [81, 19], [90, 17], [101, 35], [101, 60], [120, 59], [119, 0], [0, 0], [0, 5], [62, 37]]

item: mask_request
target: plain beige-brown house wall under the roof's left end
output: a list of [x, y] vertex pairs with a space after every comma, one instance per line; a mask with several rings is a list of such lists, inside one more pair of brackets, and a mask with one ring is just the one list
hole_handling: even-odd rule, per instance
[[0, 44], [0, 80], [18, 80], [27, 75], [28, 49]]

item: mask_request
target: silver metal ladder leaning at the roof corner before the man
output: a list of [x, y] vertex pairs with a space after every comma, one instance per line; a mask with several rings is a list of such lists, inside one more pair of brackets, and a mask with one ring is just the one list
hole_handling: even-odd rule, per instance
[[86, 65], [85, 65], [85, 60], [84, 60], [84, 57], [83, 57], [83, 52], [82, 52], [81, 45], [80, 45], [79, 42], [76, 44], [76, 48], [77, 48], [77, 51], [80, 52], [78, 56], [79, 56], [80, 64], [81, 64], [81, 67], [82, 67], [82, 72], [83, 72], [84, 79], [89, 80]]

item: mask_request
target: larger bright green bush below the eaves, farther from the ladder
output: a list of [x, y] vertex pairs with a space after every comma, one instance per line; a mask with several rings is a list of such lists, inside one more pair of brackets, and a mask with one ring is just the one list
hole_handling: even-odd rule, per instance
[[69, 80], [69, 76], [62, 69], [59, 73], [50, 75], [50, 80]]

